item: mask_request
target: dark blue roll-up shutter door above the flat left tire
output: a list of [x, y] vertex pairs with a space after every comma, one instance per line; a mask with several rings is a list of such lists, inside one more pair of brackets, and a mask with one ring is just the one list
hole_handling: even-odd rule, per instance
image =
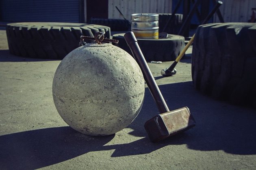
[[0, 20], [7, 22], [79, 22], [80, 0], [0, 0]]

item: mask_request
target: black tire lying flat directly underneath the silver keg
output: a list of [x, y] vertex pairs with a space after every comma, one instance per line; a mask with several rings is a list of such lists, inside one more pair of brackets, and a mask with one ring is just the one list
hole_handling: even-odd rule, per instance
[[[132, 52], [126, 44], [124, 34], [114, 34], [113, 39], [119, 40], [118, 46], [130, 55]], [[174, 61], [184, 48], [184, 36], [169, 34], [162, 39], [137, 39], [146, 61]]]

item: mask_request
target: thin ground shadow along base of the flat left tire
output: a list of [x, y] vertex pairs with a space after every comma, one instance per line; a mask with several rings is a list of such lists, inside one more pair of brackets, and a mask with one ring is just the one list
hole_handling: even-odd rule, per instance
[[28, 58], [12, 55], [9, 50], [0, 50], [0, 62], [41, 62], [54, 61], [59, 59]]

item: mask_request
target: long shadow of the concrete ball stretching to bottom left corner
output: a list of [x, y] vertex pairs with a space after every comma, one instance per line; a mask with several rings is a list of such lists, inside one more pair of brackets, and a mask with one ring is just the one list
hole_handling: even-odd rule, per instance
[[38, 169], [98, 150], [114, 138], [52, 127], [0, 136], [0, 169]]

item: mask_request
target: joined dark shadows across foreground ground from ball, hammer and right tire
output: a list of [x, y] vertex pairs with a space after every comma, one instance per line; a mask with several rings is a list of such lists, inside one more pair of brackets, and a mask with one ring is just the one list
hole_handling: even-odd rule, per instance
[[[168, 78], [166, 78], [168, 79]], [[126, 144], [105, 145], [115, 135], [91, 137], [70, 127], [52, 127], [0, 136], [1, 169], [37, 169], [92, 151], [115, 149], [112, 157], [151, 153], [167, 145], [187, 144], [200, 151], [223, 150], [238, 155], [256, 154], [256, 110], [232, 106], [203, 96], [192, 82], [161, 85], [170, 110], [188, 106], [197, 125], [161, 142], [149, 141], [143, 124], [158, 114], [154, 100], [146, 89], [141, 113], [128, 126], [139, 140]], [[118, 138], [118, 136], [116, 136]]]

